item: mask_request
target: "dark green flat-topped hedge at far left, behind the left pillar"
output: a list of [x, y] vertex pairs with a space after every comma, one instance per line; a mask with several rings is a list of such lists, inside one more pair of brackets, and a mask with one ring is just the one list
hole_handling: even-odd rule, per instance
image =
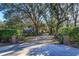
[[9, 42], [13, 35], [19, 36], [20, 31], [16, 29], [1, 29], [0, 30], [0, 41]]

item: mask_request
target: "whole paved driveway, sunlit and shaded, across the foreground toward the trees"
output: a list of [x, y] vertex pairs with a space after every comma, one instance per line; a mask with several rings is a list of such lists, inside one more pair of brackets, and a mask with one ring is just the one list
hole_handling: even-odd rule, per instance
[[0, 47], [0, 56], [79, 56], [78, 48], [54, 44], [55, 40], [48, 40], [46, 37], [44, 40], [38, 38], [28, 43]]

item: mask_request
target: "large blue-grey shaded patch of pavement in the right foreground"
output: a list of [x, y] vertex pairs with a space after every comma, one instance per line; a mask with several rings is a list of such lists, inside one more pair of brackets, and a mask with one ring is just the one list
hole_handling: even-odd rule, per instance
[[47, 44], [40, 48], [31, 49], [31, 56], [79, 56], [79, 49], [66, 45]]

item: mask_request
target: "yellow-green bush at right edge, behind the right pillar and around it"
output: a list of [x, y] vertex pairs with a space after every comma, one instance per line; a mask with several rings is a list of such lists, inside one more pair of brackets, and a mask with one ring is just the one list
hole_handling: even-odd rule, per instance
[[79, 27], [61, 29], [59, 31], [58, 38], [60, 40], [63, 40], [65, 35], [67, 35], [70, 38], [69, 40], [71, 41], [71, 43], [78, 43], [79, 42]]

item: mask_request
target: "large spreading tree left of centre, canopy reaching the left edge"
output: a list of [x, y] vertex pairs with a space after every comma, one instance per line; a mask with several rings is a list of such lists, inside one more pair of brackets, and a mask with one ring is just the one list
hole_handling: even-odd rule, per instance
[[39, 34], [40, 23], [42, 23], [41, 15], [46, 9], [44, 4], [2, 4], [2, 6], [4, 6], [4, 17], [6, 19], [12, 18], [13, 15], [18, 16], [20, 20], [29, 18], [35, 32]]

